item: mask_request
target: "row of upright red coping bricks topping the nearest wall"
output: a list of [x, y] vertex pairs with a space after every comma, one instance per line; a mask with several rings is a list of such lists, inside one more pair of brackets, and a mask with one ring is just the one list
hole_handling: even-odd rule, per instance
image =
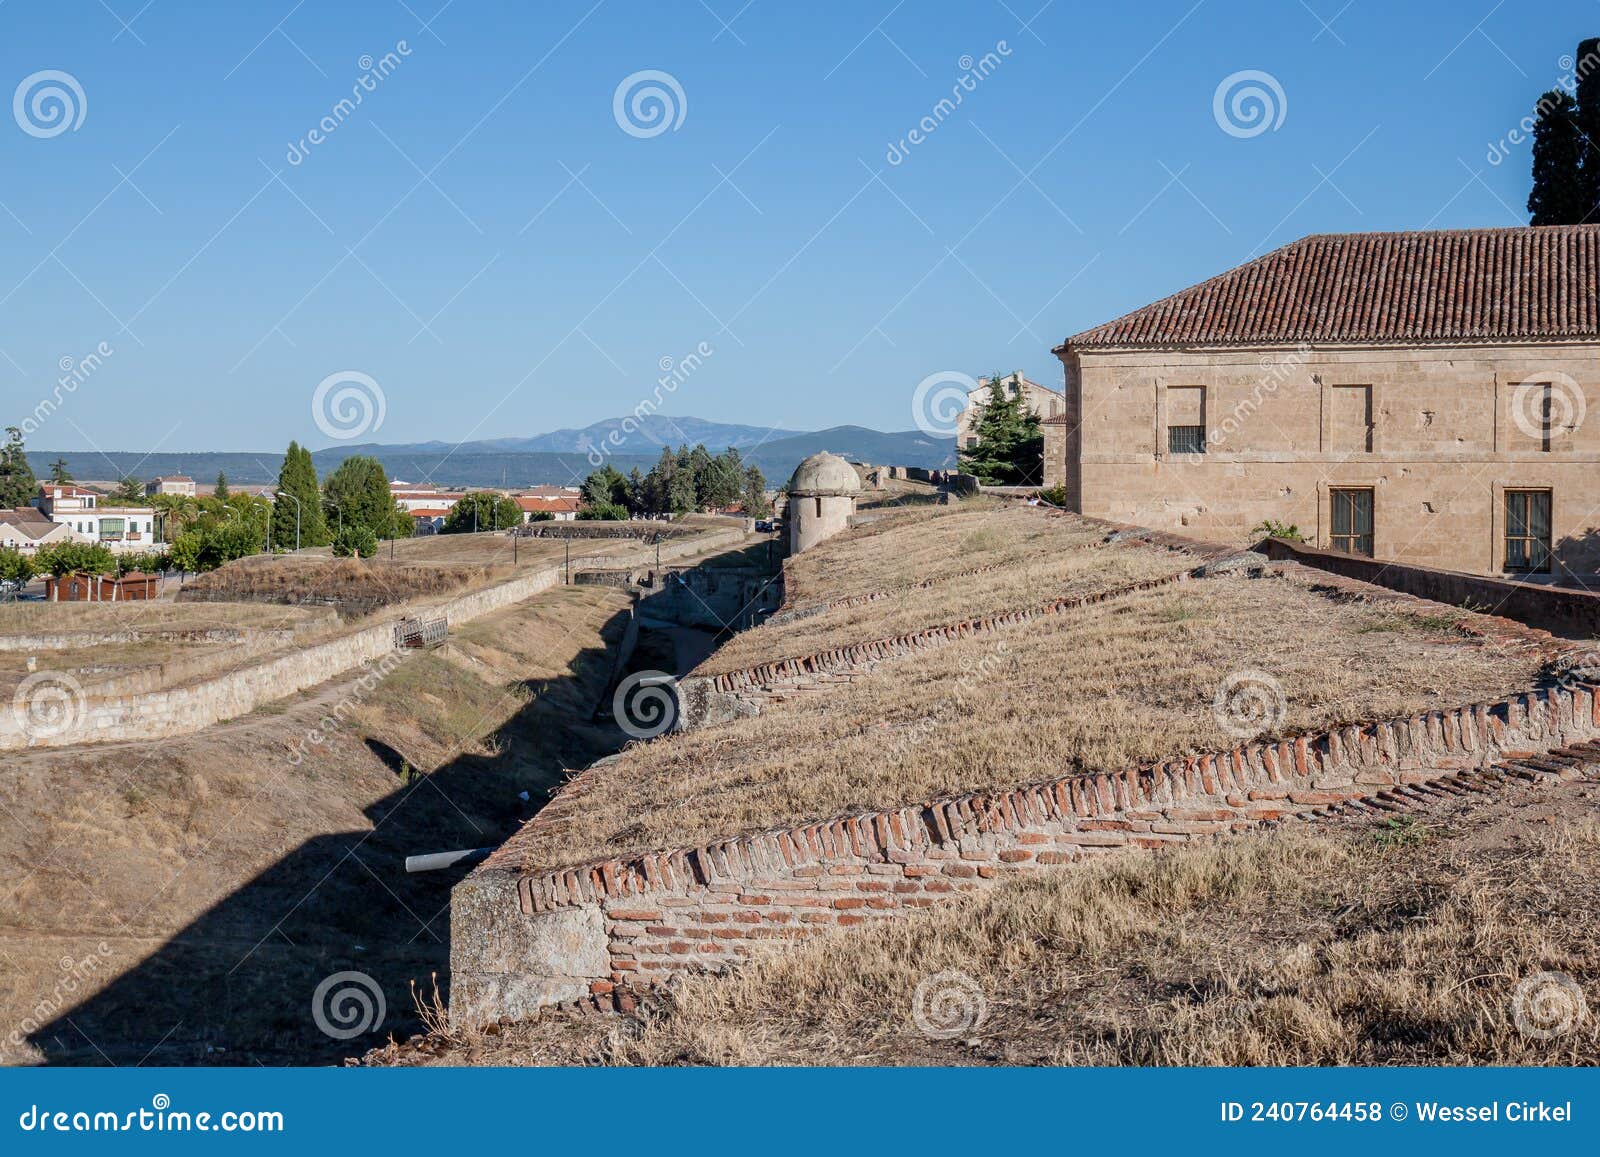
[[[1590, 685], [1526, 691], [1456, 711], [1245, 744], [1120, 773], [1075, 775], [1008, 792], [837, 816], [694, 848], [536, 872], [518, 882], [525, 914], [653, 893], [712, 888], [752, 874], [805, 874], [835, 861], [910, 863], [966, 837], [1058, 829], [1022, 839], [1002, 863], [1067, 863], [1082, 848], [1160, 847], [1320, 808], [1432, 773], [1533, 754], [1538, 736], [1600, 728]], [[1526, 751], [1523, 751], [1526, 749]], [[1392, 770], [1386, 770], [1392, 768]], [[1214, 800], [1189, 807], [1190, 800]], [[973, 872], [976, 875], [976, 872]], [[814, 875], [814, 874], [813, 874]], [[802, 877], [803, 879], [803, 877]], [[738, 891], [738, 890], [734, 890]], [[907, 890], [909, 891], [909, 890]], [[891, 903], [845, 907], [890, 907]], [[843, 909], [840, 909], [843, 911]], [[624, 915], [611, 914], [616, 920]]]

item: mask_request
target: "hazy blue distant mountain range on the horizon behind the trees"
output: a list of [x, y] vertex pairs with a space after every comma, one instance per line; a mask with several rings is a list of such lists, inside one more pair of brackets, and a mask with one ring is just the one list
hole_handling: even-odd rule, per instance
[[[955, 442], [933, 438], [922, 430], [885, 434], [861, 426], [834, 426], [826, 430], [795, 432], [765, 426], [738, 426], [704, 418], [653, 414], [624, 430], [622, 418], [610, 418], [582, 429], [552, 430], [528, 438], [486, 438], [480, 442], [358, 443], [328, 446], [312, 453], [317, 472], [326, 475], [350, 454], [371, 454], [389, 475], [406, 482], [442, 486], [536, 486], [582, 482], [603, 459], [627, 474], [635, 466], [648, 470], [661, 446], [704, 443], [714, 453], [734, 446], [750, 464], [760, 466], [770, 485], [782, 485], [802, 458], [829, 450], [845, 458], [874, 464], [925, 466], [942, 469], [955, 464]], [[630, 422], [634, 426], [634, 422]], [[616, 430], [618, 443], [610, 443]], [[606, 448], [611, 453], [605, 453]], [[594, 453], [590, 453], [594, 451]], [[179, 451], [141, 454], [131, 451], [30, 450], [34, 472], [45, 478], [50, 464], [64, 458], [75, 478], [120, 478], [134, 474], [187, 474], [210, 483], [218, 470], [238, 485], [277, 482], [282, 450], [262, 451]]]

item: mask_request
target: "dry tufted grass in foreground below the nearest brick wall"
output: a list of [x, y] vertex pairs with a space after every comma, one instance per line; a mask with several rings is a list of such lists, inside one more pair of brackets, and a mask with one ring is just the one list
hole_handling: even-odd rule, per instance
[[[1275, 832], [1016, 880], [957, 907], [787, 946], [733, 976], [683, 978], [605, 1055], [616, 1064], [1595, 1064], [1592, 1011], [1550, 1040], [1514, 1021], [1518, 983], [1539, 973], [1566, 973], [1590, 1008], [1600, 1002], [1592, 795], [1584, 810], [1581, 823], [1491, 847], [1434, 829], [1400, 845], [1370, 832]], [[955, 994], [946, 1019], [925, 1002], [925, 1023], [960, 1027], [955, 1039], [918, 1029], [925, 981]]]

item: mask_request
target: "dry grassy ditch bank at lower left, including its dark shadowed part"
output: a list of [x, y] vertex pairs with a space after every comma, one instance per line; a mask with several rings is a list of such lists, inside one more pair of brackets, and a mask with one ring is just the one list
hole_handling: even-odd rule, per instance
[[8, 754], [3, 1059], [333, 1061], [310, 994], [341, 968], [418, 1024], [461, 872], [405, 856], [499, 842], [522, 792], [614, 747], [587, 717], [626, 618], [614, 591], [555, 587], [194, 736]]

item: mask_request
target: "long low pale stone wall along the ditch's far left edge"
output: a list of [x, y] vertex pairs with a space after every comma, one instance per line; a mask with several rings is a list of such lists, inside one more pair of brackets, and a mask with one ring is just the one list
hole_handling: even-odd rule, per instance
[[[742, 531], [718, 531], [662, 546], [661, 557], [675, 558], [742, 541]], [[640, 549], [637, 560], [643, 562], [646, 555], [653, 560], [656, 557], [654, 547]], [[560, 566], [539, 570], [450, 600], [429, 613], [430, 616], [443, 615], [450, 626], [456, 627], [510, 603], [531, 599], [541, 591], [560, 584], [562, 576]], [[29, 731], [24, 728], [26, 712], [0, 711], [0, 751], [190, 735], [213, 723], [245, 715], [264, 703], [325, 683], [358, 666], [371, 664], [394, 648], [394, 624], [386, 621], [186, 687], [106, 698], [83, 693], [70, 707], [70, 725], [59, 730], [40, 731], [35, 728]]]

